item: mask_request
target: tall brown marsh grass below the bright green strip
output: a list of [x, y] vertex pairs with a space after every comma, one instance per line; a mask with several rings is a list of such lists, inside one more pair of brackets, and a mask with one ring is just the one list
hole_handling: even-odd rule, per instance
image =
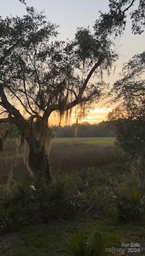
[[73, 142], [54, 143], [50, 153], [53, 169], [62, 170], [99, 167], [114, 161], [112, 147], [98, 147], [96, 144]]

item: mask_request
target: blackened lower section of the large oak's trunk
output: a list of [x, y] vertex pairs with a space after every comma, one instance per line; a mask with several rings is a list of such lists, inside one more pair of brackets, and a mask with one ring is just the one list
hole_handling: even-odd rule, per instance
[[34, 148], [29, 146], [28, 164], [35, 175], [43, 173], [47, 184], [51, 182], [51, 167], [44, 148], [35, 152]]

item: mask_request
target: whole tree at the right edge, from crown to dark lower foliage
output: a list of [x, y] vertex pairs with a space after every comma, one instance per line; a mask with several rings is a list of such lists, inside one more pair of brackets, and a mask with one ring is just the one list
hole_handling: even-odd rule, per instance
[[[109, 114], [117, 130], [121, 148], [145, 166], [145, 52], [136, 54], [122, 69], [111, 94], [120, 104]], [[142, 175], [143, 176], [143, 175]]]

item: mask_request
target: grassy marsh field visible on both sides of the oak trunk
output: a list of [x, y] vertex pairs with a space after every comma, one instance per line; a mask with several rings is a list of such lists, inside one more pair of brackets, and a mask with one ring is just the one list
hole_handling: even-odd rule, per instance
[[[50, 152], [53, 173], [111, 164], [116, 159], [114, 142], [115, 139], [108, 138], [55, 138]], [[0, 183], [8, 179], [15, 159], [16, 147], [9, 143], [6, 145], [6, 152], [0, 152]], [[26, 172], [24, 161], [20, 159], [14, 168], [13, 177], [18, 180]]]

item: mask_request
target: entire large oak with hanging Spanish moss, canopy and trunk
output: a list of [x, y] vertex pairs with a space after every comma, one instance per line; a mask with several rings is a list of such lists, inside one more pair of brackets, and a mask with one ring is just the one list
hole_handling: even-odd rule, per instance
[[[123, 32], [126, 12], [134, 2], [139, 6], [131, 19], [138, 17], [138, 26], [132, 30], [141, 33], [144, 22], [138, 10], [143, 12], [144, 1], [110, 0], [110, 10], [100, 13], [94, 33], [78, 28], [74, 40], [67, 42], [56, 39], [57, 25], [34, 8], [26, 8], [22, 18], [0, 17], [0, 106], [6, 115], [0, 123], [17, 126], [20, 145], [27, 142], [29, 147], [29, 170], [35, 174], [43, 169], [47, 181], [53, 137], [49, 116], [58, 111], [60, 120], [65, 113], [67, 119], [74, 106], [82, 114], [87, 102], [100, 99], [106, 86], [102, 73], [118, 58], [114, 38]], [[90, 80], [93, 75], [96, 83]]]

